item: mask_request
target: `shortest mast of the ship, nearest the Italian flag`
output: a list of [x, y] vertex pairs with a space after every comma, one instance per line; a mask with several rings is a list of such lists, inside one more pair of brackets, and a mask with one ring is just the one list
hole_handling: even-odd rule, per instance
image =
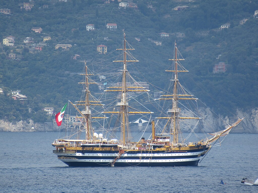
[[[84, 62], [85, 65], [85, 74], [80, 74], [85, 76], [85, 81], [84, 82], [78, 82], [78, 84], [83, 84], [84, 85], [84, 90], [82, 92], [85, 92], [84, 94], [84, 100], [83, 101], [76, 101], [76, 104], [73, 104], [71, 101], [69, 101], [75, 109], [80, 113], [81, 116], [76, 116], [75, 118], [77, 119], [84, 119], [84, 124], [85, 124], [85, 139], [88, 141], [91, 141], [93, 139], [93, 130], [92, 130], [92, 125], [91, 125], [91, 119], [92, 118], [107, 118], [107, 117], [92, 117], [91, 116], [91, 106], [103, 106], [100, 101], [97, 100], [91, 100], [90, 98], [94, 97], [91, 95], [89, 85], [90, 84], [96, 84], [96, 82], [90, 81], [89, 76], [94, 75], [94, 74], [88, 74], [88, 67], [86, 65], [86, 62]], [[83, 110], [79, 110], [78, 107], [83, 107]]]

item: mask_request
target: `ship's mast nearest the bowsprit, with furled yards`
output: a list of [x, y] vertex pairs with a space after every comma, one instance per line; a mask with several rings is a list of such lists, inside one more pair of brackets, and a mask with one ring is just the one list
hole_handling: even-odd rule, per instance
[[[174, 58], [169, 59], [174, 61], [173, 62], [173, 70], [166, 70], [166, 72], [172, 72], [174, 73], [174, 76], [172, 80], [173, 84], [173, 94], [167, 94], [167, 95], [161, 95], [163, 98], [160, 98], [159, 100], [170, 100], [171, 105], [167, 110], [167, 113], [170, 116], [167, 117], [157, 117], [159, 119], [167, 119], [167, 123], [162, 131], [164, 132], [165, 128], [169, 128], [170, 134], [172, 137], [171, 146], [178, 146], [180, 143], [183, 143], [183, 135], [182, 131], [180, 129], [179, 119], [201, 119], [199, 117], [180, 117], [180, 111], [181, 109], [178, 107], [179, 100], [197, 100], [196, 98], [193, 98], [193, 95], [187, 93], [182, 87], [180, 87], [179, 79], [178, 79], [178, 73], [179, 72], [189, 72], [187, 71], [183, 66], [180, 66], [179, 64], [180, 60], [184, 60], [183, 58], [179, 58], [180, 53], [177, 49], [176, 43], [175, 43], [175, 49], [174, 49]], [[179, 89], [180, 87], [180, 89]], [[192, 97], [192, 98], [190, 98]]]

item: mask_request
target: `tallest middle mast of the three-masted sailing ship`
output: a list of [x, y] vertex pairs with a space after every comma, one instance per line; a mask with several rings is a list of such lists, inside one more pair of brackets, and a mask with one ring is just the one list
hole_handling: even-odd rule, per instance
[[[127, 78], [129, 75], [127, 70], [127, 62], [139, 62], [136, 60], [132, 55], [129, 55], [133, 48], [126, 48], [126, 44], [128, 42], [125, 38], [125, 32], [123, 31], [123, 48], [116, 49], [116, 50], [123, 50], [123, 60], [115, 60], [113, 62], [122, 62], [123, 68], [122, 70], [122, 84], [121, 86], [111, 86], [107, 87], [106, 92], [120, 92], [121, 98], [120, 102], [117, 102], [116, 106], [120, 106], [119, 111], [105, 111], [102, 113], [112, 113], [118, 114], [120, 117], [120, 127], [121, 127], [121, 141], [123, 145], [126, 145], [130, 140], [130, 127], [129, 127], [129, 114], [143, 114], [143, 113], [153, 113], [153, 112], [143, 112], [143, 111], [130, 111], [128, 106], [128, 92], [148, 92], [149, 90], [145, 90], [145, 87], [142, 86], [128, 86], [127, 85]], [[128, 57], [129, 56], [129, 57]], [[112, 89], [112, 90], [111, 90]], [[115, 90], [114, 90], [115, 89]]]

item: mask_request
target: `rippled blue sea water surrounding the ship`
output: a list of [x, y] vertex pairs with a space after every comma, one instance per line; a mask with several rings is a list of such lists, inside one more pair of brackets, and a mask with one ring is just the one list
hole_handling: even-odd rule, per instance
[[52, 153], [57, 137], [0, 133], [0, 192], [258, 192], [240, 183], [258, 178], [257, 134], [230, 134], [195, 167], [70, 168]]

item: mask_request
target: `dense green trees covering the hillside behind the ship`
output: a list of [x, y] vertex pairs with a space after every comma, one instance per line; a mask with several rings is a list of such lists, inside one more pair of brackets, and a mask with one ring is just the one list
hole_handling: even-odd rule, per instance
[[[207, 106], [220, 113], [225, 113], [225, 109], [258, 106], [255, 97], [258, 95], [258, 19], [253, 17], [258, 9], [257, 1], [134, 2], [138, 10], [119, 9], [117, 1], [104, 4], [101, 0], [42, 0], [34, 1], [31, 11], [25, 11], [20, 9], [23, 1], [1, 1], [0, 8], [11, 9], [12, 15], [0, 15], [0, 37], [14, 36], [15, 46], [0, 48], [0, 88], [5, 93], [0, 95], [0, 119], [32, 118], [43, 122], [44, 107], [61, 109], [68, 99], [77, 100], [81, 90], [77, 73], [83, 71], [82, 61], [85, 59], [96, 74], [103, 73], [102, 68], [110, 61], [91, 65], [103, 60], [96, 46], [106, 45], [108, 58], [115, 57], [118, 53], [114, 50], [122, 43], [122, 29], [136, 49], [132, 54], [140, 60], [129, 68], [141, 81], [156, 85], [151, 90], [160, 91], [168, 86], [164, 70], [170, 65], [168, 59], [172, 57], [176, 40], [185, 59], [182, 64], [190, 71], [182, 75], [186, 85]], [[46, 4], [49, 7], [43, 9]], [[156, 7], [156, 12], [147, 8], [148, 4]], [[189, 8], [173, 10], [179, 5]], [[244, 18], [247, 22], [239, 25]], [[230, 28], [219, 30], [227, 22]], [[96, 30], [86, 31], [86, 25], [91, 23]], [[117, 23], [117, 30], [107, 30], [106, 23]], [[41, 27], [43, 33], [31, 33], [32, 27]], [[170, 37], [160, 38], [160, 32], [170, 33]], [[45, 36], [52, 39], [42, 51], [30, 51], [31, 46], [23, 43], [25, 37], [32, 37], [38, 43]], [[162, 46], [156, 46], [148, 38], [161, 40]], [[71, 44], [72, 48], [55, 50], [58, 43]], [[7, 59], [9, 53], [15, 53], [18, 60]], [[81, 56], [79, 60], [71, 59], [75, 54]], [[228, 70], [213, 74], [213, 66], [219, 62], [227, 63]], [[116, 67], [108, 66], [105, 71], [113, 68]], [[27, 104], [10, 99], [11, 90], [21, 90], [28, 96]]]

